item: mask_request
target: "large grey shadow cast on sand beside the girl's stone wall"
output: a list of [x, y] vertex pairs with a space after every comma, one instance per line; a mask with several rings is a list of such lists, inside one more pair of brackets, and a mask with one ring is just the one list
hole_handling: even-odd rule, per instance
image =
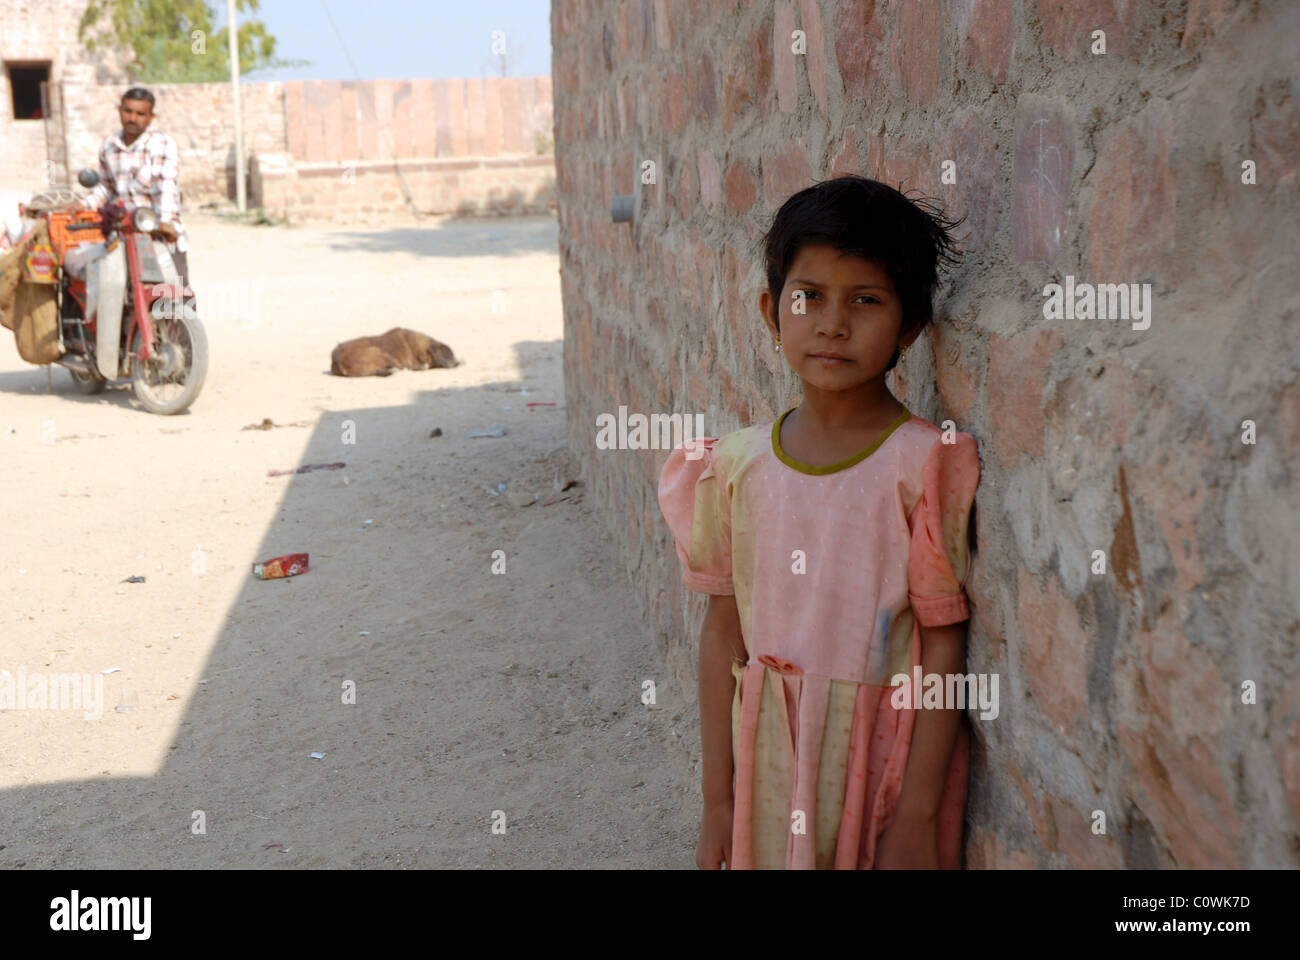
[[[467, 389], [489, 407], [511, 385]], [[321, 415], [304, 462], [346, 470], [292, 476], [256, 555], [235, 558], [307, 552], [311, 571], [244, 574], [203, 682], [176, 691], [183, 715], [156, 774], [0, 792], [0, 866], [689, 865], [689, 764], [675, 710], [640, 702], [642, 679], [664, 678], [660, 704], [680, 696], [602, 531], [584, 503], [486, 493], [500, 480], [549, 492], [563, 450], [538, 457], [550, 433], [537, 449], [511, 434], [471, 442], [519, 444], [506, 471], [478, 447], [452, 462], [428, 436], [446, 392]], [[348, 419], [368, 445], [341, 457]], [[139, 598], [183, 604], [196, 579], [151, 576]], [[114, 710], [122, 684], [140, 686], [122, 666], [86, 722], [174, 723], [168, 691]], [[26, 722], [39, 735], [39, 715]]]

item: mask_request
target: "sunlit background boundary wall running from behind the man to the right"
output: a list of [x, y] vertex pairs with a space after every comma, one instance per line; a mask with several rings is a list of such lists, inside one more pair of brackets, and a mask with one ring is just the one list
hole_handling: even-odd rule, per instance
[[[74, 172], [96, 163], [100, 142], [118, 125], [124, 90], [64, 85]], [[181, 151], [186, 208], [234, 198], [230, 85], [150, 90], [155, 126]], [[272, 216], [356, 222], [412, 208], [523, 213], [555, 206], [549, 77], [243, 83], [240, 100], [250, 203]]]

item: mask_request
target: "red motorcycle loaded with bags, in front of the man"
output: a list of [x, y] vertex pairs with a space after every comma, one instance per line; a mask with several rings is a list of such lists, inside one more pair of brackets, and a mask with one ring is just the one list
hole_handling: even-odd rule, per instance
[[[84, 169], [77, 181], [94, 187], [99, 173]], [[186, 410], [207, 377], [208, 338], [164, 242], [170, 228], [152, 207], [114, 200], [95, 212], [69, 209], [75, 195], [43, 199], [25, 212], [47, 221], [51, 245], [27, 254], [23, 278], [57, 290], [55, 363], [82, 393], [129, 377], [150, 412]]]

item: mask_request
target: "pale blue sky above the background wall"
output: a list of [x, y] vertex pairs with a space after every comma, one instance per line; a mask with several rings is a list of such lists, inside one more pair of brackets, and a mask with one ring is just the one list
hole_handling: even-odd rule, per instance
[[[225, 29], [225, 0], [209, 3]], [[551, 72], [549, 0], [261, 0], [256, 18], [276, 38], [277, 56], [312, 65], [250, 81], [500, 75], [494, 30], [504, 31], [508, 75]]]

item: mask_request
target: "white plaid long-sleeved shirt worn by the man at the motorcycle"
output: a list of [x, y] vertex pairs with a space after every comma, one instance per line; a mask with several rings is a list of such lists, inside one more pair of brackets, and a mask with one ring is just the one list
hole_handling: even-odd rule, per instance
[[190, 241], [181, 222], [179, 174], [181, 152], [165, 133], [146, 130], [126, 146], [118, 131], [99, 148], [100, 182], [82, 203], [87, 209], [98, 209], [110, 199], [134, 207], [150, 204], [161, 222], [176, 226], [176, 250], [183, 254]]

